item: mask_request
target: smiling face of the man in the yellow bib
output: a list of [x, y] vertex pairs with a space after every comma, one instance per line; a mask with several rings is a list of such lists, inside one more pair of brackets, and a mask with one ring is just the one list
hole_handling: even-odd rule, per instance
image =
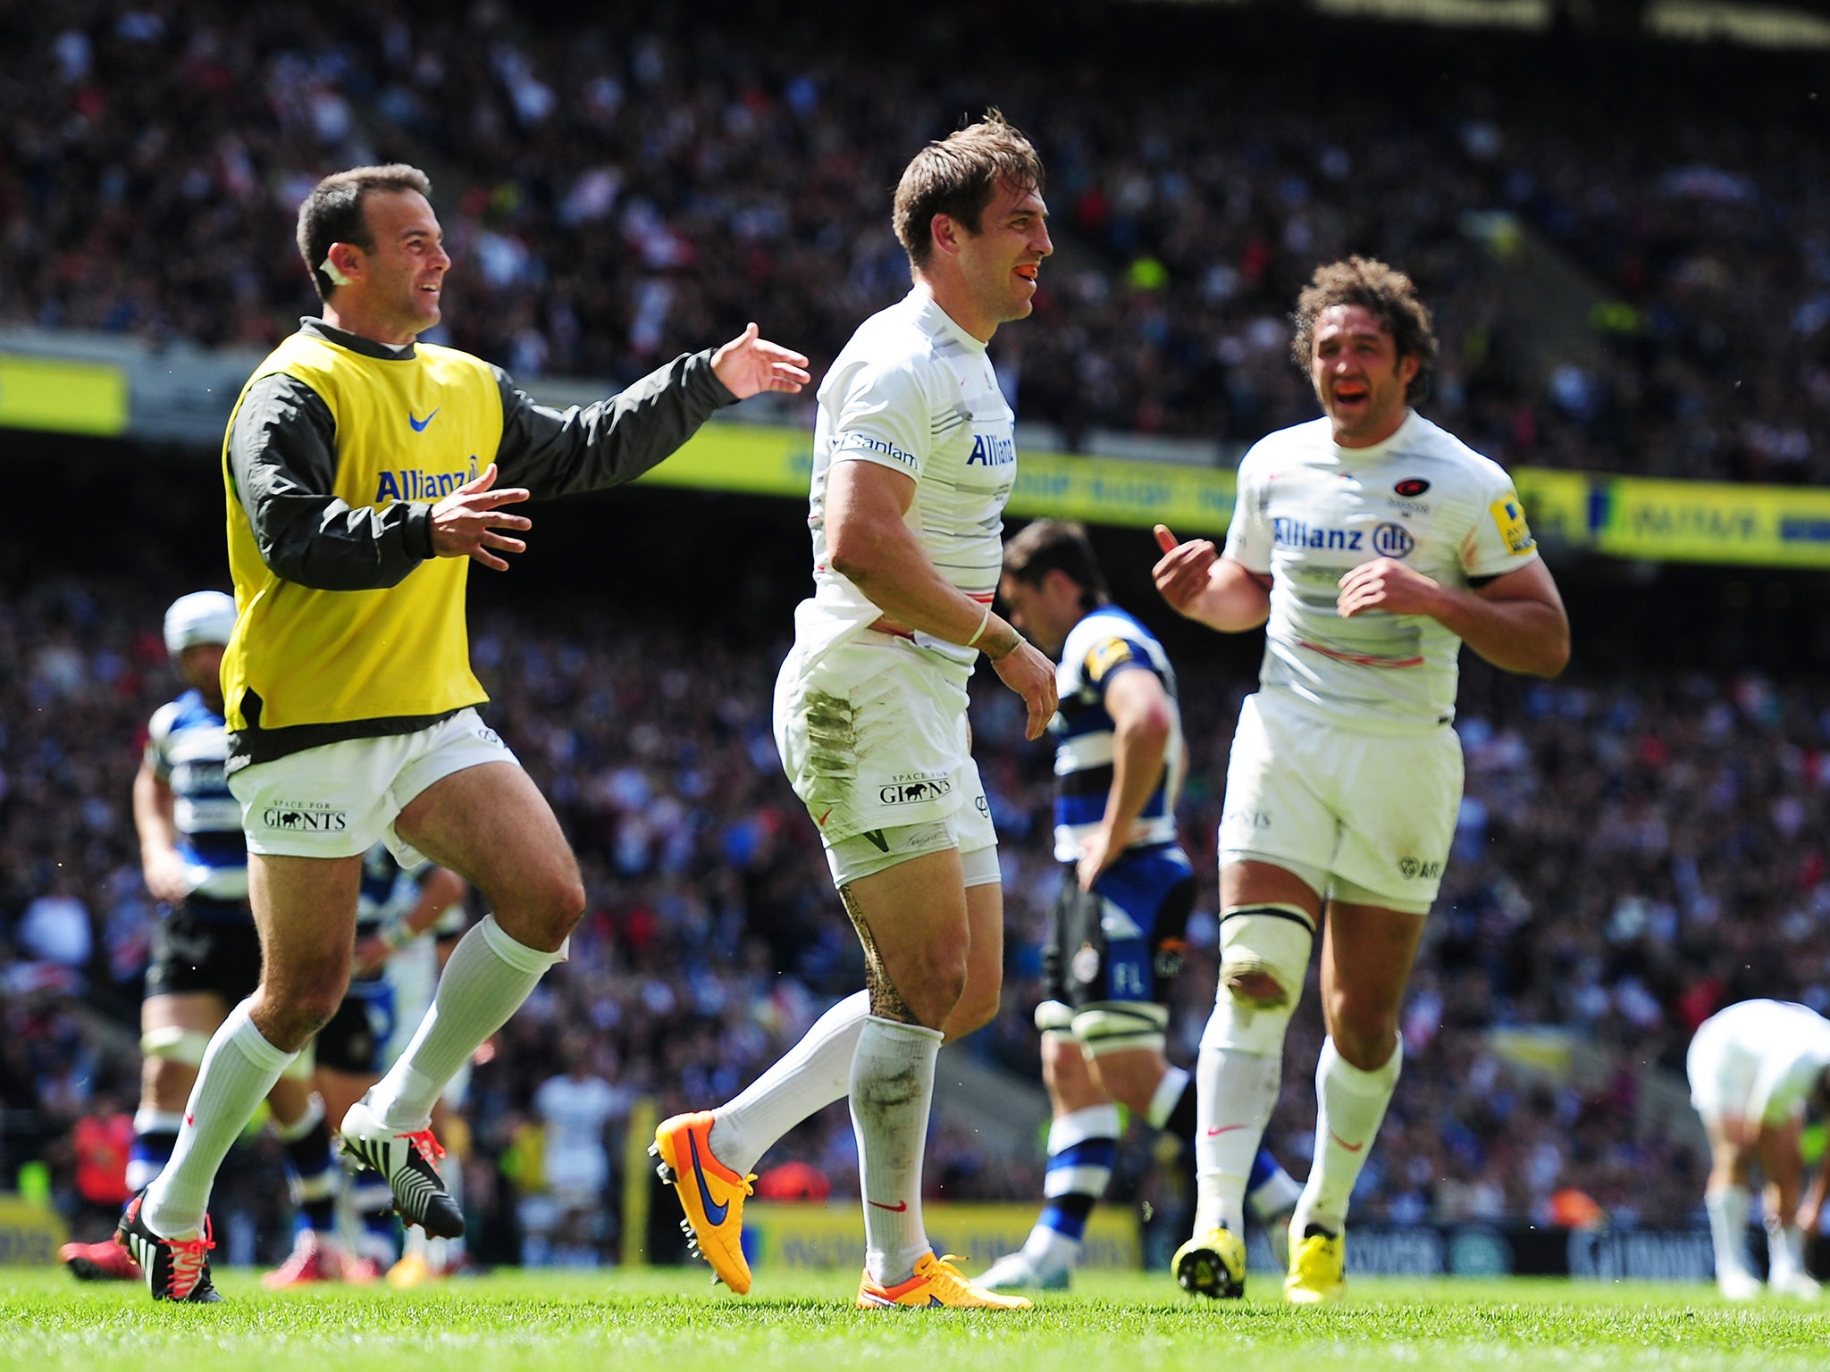
[[362, 198], [373, 251], [333, 243], [331, 263], [348, 278], [326, 302], [326, 318], [384, 344], [406, 344], [439, 322], [439, 295], [452, 260], [432, 205], [417, 190]]

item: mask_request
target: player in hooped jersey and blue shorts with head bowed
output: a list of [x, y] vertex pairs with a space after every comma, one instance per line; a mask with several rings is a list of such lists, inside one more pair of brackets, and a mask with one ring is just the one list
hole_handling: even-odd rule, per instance
[[[1149, 629], [1111, 604], [1078, 523], [1036, 520], [1005, 545], [1010, 622], [1061, 660], [1050, 724], [1054, 856], [1061, 887], [1043, 946], [1036, 1006], [1049, 1125], [1045, 1206], [1023, 1248], [981, 1286], [1061, 1290], [1087, 1218], [1111, 1182], [1127, 1107], [1193, 1152], [1197, 1090], [1162, 1054], [1169, 982], [1195, 906], [1177, 838], [1188, 774], [1175, 668]], [[1246, 1184], [1255, 1217], [1288, 1222], [1297, 1185], [1263, 1152]]]

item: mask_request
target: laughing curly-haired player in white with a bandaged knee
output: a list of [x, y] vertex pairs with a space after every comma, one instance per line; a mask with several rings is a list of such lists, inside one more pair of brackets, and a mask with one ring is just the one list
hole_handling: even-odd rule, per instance
[[1244, 1290], [1243, 1195], [1316, 926], [1329, 1037], [1285, 1293], [1345, 1292], [1347, 1198], [1404, 1061], [1398, 1006], [1462, 794], [1457, 655], [1556, 677], [1570, 627], [1512, 479], [1411, 408], [1437, 337], [1383, 262], [1319, 267], [1292, 355], [1325, 415], [1239, 465], [1226, 552], [1157, 527], [1157, 587], [1222, 633], [1266, 624], [1221, 816], [1221, 986], [1200, 1043], [1184, 1290]]

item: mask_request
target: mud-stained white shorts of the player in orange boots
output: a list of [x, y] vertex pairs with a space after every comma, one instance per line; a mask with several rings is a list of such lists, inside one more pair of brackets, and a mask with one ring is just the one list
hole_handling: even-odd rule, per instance
[[[970, 675], [869, 629], [811, 664], [789, 653], [776, 679], [776, 750], [829, 854], [856, 847], [851, 840], [871, 843], [869, 834], [888, 836], [886, 856], [897, 860], [996, 847], [966, 726]], [[902, 852], [899, 840], [908, 840]], [[844, 885], [840, 876], [834, 867]]]

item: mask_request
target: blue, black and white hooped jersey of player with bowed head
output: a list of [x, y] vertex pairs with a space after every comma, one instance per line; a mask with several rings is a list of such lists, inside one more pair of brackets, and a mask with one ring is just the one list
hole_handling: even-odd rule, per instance
[[1169, 695], [1169, 739], [1162, 776], [1138, 810], [1127, 849], [1175, 841], [1175, 803], [1182, 792], [1182, 712], [1175, 699], [1175, 668], [1157, 635], [1116, 606], [1100, 606], [1067, 633], [1061, 664], [1054, 670], [1060, 708], [1054, 730], [1054, 856], [1074, 862], [1080, 845], [1105, 816], [1113, 788], [1113, 717], [1105, 688], [1120, 671], [1149, 671]]

